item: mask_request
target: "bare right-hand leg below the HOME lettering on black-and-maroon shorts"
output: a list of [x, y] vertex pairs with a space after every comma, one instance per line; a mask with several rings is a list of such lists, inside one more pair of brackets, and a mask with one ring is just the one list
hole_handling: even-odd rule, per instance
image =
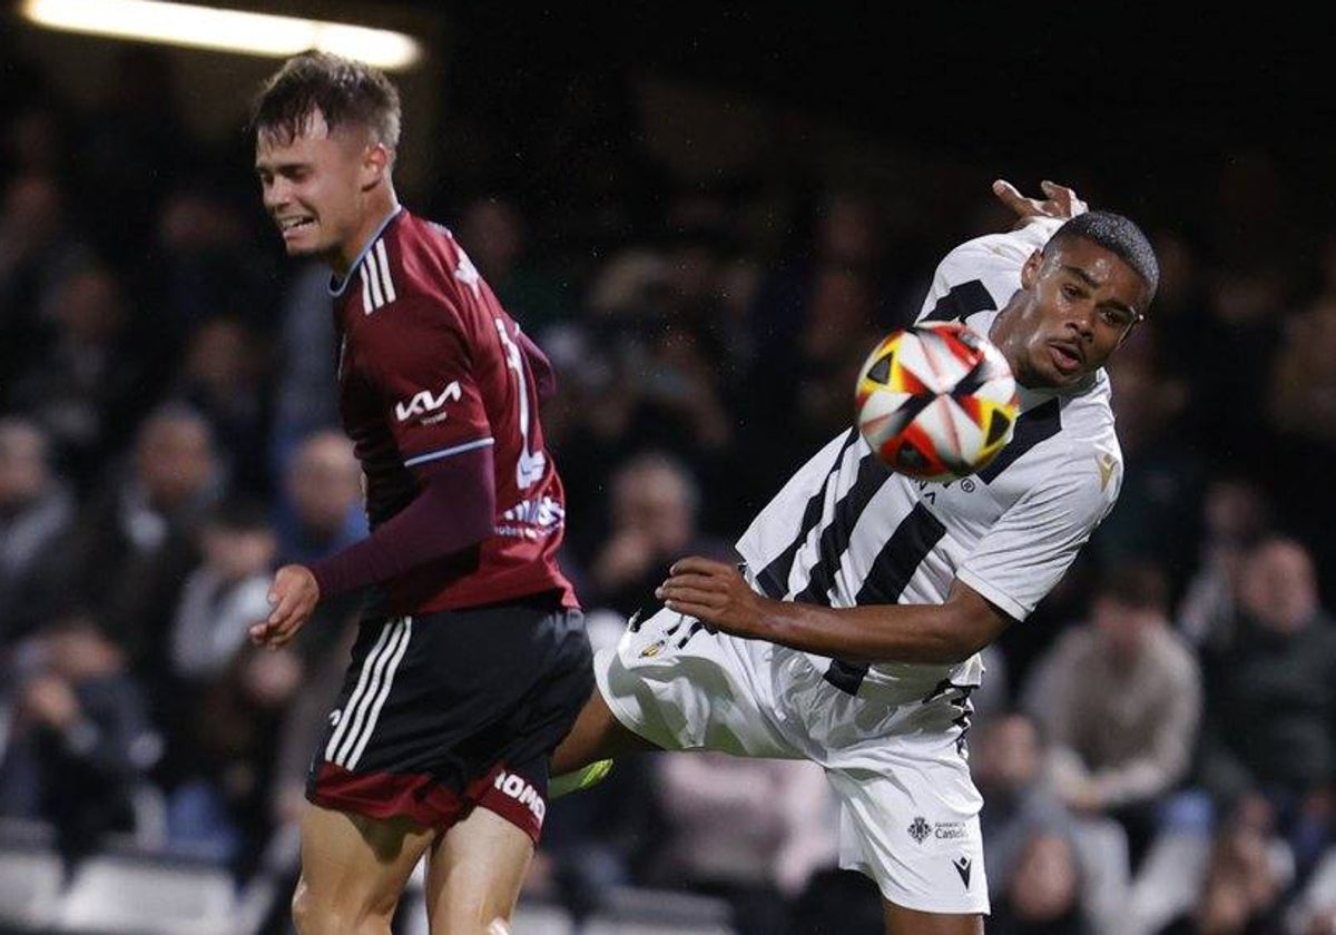
[[428, 863], [426, 904], [432, 935], [481, 935], [510, 920], [533, 859], [533, 839], [486, 808], [436, 842]]

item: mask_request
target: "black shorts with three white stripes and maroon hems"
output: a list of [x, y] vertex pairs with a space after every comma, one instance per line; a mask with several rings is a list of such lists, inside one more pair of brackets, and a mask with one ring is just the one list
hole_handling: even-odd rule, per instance
[[582, 616], [560, 596], [366, 620], [306, 796], [442, 831], [481, 807], [537, 843], [548, 757], [592, 691]]

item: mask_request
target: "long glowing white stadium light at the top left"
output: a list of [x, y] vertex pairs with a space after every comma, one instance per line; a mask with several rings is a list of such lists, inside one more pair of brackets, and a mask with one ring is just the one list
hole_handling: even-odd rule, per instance
[[318, 48], [402, 71], [422, 57], [402, 32], [162, 0], [24, 0], [20, 12], [51, 29], [275, 59]]

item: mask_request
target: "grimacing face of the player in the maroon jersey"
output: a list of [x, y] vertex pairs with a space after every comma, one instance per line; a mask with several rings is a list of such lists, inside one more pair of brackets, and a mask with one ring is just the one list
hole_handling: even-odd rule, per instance
[[259, 134], [255, 172], [290, 256], [321, 256], [337, 267], [357, 256], [366, 227], [367, 151], [355, 131], [331, 135], [319, 111], [293, 139]]

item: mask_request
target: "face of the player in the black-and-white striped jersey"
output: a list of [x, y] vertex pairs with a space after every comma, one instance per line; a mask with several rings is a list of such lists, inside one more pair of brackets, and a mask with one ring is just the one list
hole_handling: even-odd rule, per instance
[[1031, 256], [1021, 285], [1027, 299], [998, 343], [1029, 387], [1061, 389], [1102, 367], [1149, 303], [1145, 280], [1083, 238]]

